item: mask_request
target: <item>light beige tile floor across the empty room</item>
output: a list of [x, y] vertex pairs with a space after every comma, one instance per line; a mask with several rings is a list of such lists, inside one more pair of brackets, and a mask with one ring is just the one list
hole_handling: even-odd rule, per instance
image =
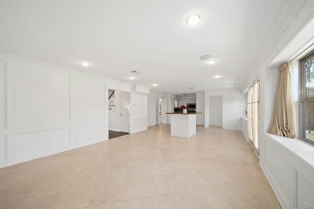
[[0, 209], [281, 209], [241, 131], [170, 125], [0, 169]]

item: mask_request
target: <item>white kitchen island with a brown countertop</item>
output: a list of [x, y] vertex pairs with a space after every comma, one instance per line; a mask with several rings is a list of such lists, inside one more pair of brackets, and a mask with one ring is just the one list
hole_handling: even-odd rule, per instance
[[201, 112], [167, 112], [171, 114], [171, 135], [189, 138], [196, 133], [196, 115]]

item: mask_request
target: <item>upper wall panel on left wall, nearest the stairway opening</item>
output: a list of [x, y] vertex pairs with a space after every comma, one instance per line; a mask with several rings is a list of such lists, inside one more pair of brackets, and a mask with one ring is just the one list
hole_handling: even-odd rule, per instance
[[89, 78], [75, 78], [75, 121], [105, 119], [105, 83]]

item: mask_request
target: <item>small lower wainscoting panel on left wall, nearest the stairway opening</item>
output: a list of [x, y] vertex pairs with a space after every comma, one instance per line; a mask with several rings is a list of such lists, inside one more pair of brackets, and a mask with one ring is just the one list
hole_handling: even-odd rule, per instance
[[74, 140], [77, 147], [104, 141], [105, 124], [76, 127]]

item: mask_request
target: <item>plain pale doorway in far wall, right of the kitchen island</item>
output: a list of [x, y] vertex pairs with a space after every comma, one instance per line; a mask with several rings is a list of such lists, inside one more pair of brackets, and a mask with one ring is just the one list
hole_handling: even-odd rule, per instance
[[209, 122], [211, 126], [222, 126], [222, 96], [209, 97]]

